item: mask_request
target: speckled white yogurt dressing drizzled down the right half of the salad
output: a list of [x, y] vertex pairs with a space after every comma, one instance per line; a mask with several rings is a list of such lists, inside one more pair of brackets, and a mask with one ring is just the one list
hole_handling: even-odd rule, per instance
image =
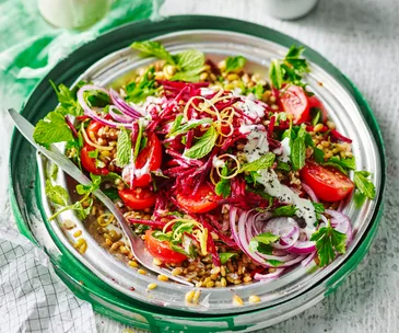
[[[261, 125], [242, 125], [240, 133], [249, 133], [247, 136], [248, 143], [244, 147], [244, 152], [248, 162], [254, 162], [265, 156], [269, 151], [268, 134]], [[285, 140], [285, 139], [284, 139]], [[289, 161], [290, 145], [289, 140], [282, 141], [283, 154], [282, 160]], [[285, 160], [286, 159], [286, 160]], [[257, 180], [265, 186], [265, 191], [273, 197], [277, 197], [281, 203], [294, 205], [296, 207], [295, 215], [306, 221], [305, 232], [308, 238], [315, 231], [314, 223], [316, 222], [316, 213], [313, 203], [308, 199], [301, 198], [289, 186], [281, 184], [273, 170], [258, 171], [259, 179]]]

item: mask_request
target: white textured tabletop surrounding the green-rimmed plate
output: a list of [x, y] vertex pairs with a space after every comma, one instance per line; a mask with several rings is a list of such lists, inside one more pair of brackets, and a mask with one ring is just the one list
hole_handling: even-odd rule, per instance
[[[286, 33], [318, 50], [361, 90], [386, 142], [388, 181], [377, 237], [356, 271], [333, 295], [268, 333], [399, 332], [399, 1], [319, 0], [306, 18], [268, 16], [262, 0], [166, 0], [163, 15], [236, 18]], [[124, 325], [97, 315], [99, 332]]]

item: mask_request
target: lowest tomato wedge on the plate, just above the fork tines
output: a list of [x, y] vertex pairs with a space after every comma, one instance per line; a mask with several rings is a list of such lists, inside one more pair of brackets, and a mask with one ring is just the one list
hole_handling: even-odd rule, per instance
[[152, 229], [145, 231], [145, 245], [153, 257], [168, 264], [178, 264], [187, 259], [183, 253], [173, 251], [167, 242], [152, 237], [153, 231]]

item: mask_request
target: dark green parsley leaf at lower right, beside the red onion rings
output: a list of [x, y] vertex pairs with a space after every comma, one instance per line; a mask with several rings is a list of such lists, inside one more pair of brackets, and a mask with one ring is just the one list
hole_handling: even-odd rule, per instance
[[345, 253], [347, 234], [331, 226], [322, 227], [312, 234], [310, 241], [316, 242], [319, 266], [326, 266], [336, 259], [336, 252]]

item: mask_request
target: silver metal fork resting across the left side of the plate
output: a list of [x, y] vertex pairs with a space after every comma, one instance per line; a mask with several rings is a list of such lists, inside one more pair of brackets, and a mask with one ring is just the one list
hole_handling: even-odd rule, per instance
[[[50, 161], [55, 162], [60, 169], [62, 169], [66, 173], [68, 173], [72, 179], [79, 182], [82, 185], [92, 185], [92, 182], [84, 175], [84, 173], [72, 163], [63, 153], [61, 153], [57, 147], [54, 145], [50, 146], [50, 150], [46, 149], [43, 146], [39, 146], [35, 142], [33, 138], [34, 126], [25, 119], [21, 114], [19, 114], [15, 110], [9, 108], [9, 115], [13, 119], [16, 128], [20, 133], [26, 138], [26, 140], [34, 146], [38, 151], [40, 151], [46, 158]], [[134, 257], [138, 260], [140, 264], [142, 264], [148, 269], [163, 274], [167, 276], [169, 279], [178, 282], [180, 284], [187, 286], [193, 286], [187, 279], [175, 276], [172, 274], [171, 269], [160, 267], [153, 263], [152, 255], [148, 252], [143, 240], [133, 232], [133, 230], [129, 227], [126, 221], [124, 215], [118, 209], [118, 207], [101, 191], [96, 190], [93, 194], [101, 200], [103, 204], [109, 209], [109, 211], [115, 216], [117, 221], [119, 222], [121, 230], [125, 237], [128, 239], [130, 249]]]

